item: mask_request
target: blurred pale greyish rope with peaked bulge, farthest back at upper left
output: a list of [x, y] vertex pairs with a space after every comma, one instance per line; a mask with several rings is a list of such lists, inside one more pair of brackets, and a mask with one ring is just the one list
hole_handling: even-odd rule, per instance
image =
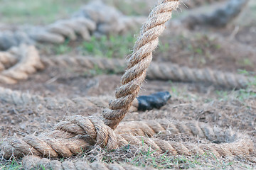
[[[99, 10], [100, 9], [100, 10]], [[107, 13], [107, 16], [106, 16]], [[92, 1], [83, 6], [72, 18], [56, 21], [48, 26], [23, 26], [18, 30], [0, 32], [0, 50], [36, 42], [63, 43], [66, 38], [90, 40], [92, 35], [123, 34], [146, 21], [144, 17], [124, 16], [117, 9], [100, 1]]]

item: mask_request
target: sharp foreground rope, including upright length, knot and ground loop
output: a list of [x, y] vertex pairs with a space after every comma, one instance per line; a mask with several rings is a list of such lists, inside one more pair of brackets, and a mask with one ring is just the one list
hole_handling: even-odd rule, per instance
[[[215, 157], [249, 155], [253, 151], [253, 142], [250, 137], [232, 130], [211, 128], [205, 123], [149, 120], [119, 125], [139, 94], [140, 86], [146, 77], [146, 70], [152, 60], [152, 52], [158, 45], [159, 35], [164, 31], [164, 23], [171, 18], [171, 13], [178, 8], [178, 4], [178, 0], [161, 0], [152, 9], [135, 42], [132, 55], [128, 57], [127, 70], [122, 76], [121, 86], [115, 91], [116, 99], [110, 101], [109, 108], [102, 111], [100, 118], [74, 115], [60, 121], [48, 133], [41, 133], [38, 136], [26, 135], [21, 138], [11, 137], [1, 144], [0, 155], [5, 159], [28, 155], [49, 158], [71, 157], [84, 149], [92, 149], [95, 145], [107, 150], [126, 145], [143, 145], [159, 153], [185, 156], [203, 155], [206, 152], [212, 153]], [[31, 69], [31, 72], [34, 70]], [[210, 142], [195, 144], [161, 140], [155, 137], [159, 132], [164, 131], [203, 137]], [[23, 164], [31, 166], [29, 163], [31, 159], [36, 160], [32, 162], [33, 165], [38, 164], [36, 163], [38, 157], [26, 157], [23, 159]], [[46, 160], [46, 164], [51, 162], [48, 159], [40, 160]], [[53, 164], [61, 164], [63, 169], [65, 169], [64, 166], [73, 168], [75, 166], [78, 169], [76, 163], [53, 161]], [[97, 165], [97, 162], [90, 165], [85, 162], [81, 164], [91, 167], [106, 166], [109, 169], [112, 166], [114, 169], [112, 164]], [[122, 168], [126, 169], [124, 166]]]

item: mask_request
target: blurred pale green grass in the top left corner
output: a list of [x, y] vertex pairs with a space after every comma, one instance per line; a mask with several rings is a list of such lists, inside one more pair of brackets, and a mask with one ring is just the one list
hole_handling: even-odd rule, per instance
[[0, 0], [1, 23], [52, 23], [69, 17], [87, 0]]

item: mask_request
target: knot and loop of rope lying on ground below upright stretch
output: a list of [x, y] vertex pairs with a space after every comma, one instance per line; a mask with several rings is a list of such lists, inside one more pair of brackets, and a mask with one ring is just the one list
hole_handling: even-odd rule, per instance
[[[155, 124], [151, 125], [151, 131], [157, 129], [157, 125], [161, 125], [159, 130], [167, 130], [167, 128], [164, 127], [169, 127], [171, 132], [175, 132], [175, 134], [182, 132], [182, 134], [185, 135], [206, 137], [211, 140], [211, 142], [216, 143], [193, 144], [190, 142], [175, 142], [134, 136], [139, 134], [139, 130], [142, 130], [138, 129], [138, 132], [134, 132], [134, 126], [130, 128], [130, 130], [133, 131], [132, 135], [119, 135], [119, 133], [122, 133], [122, 130], [117, 130], [116, 133], [114, 133], [110, 127], [105, 125], [98, 118], [85, 118], [75, 115], [55, 125], [53, 131], [48, 134], [41, 134], [38, 137], [28, 135], [21, 139], [13, 138], [3, 142], [1, 155], [6, 159], [11, 157], [23, 157], [28, 154], [43, 157], [71, 157], [72, 155], [81, 153], [82, 149], [89, 149], [95, 144], [106, 147], [107, 149], [116, 149], [117, 147], [128, 144], [135, 146], [145, 145], [145, 147], [151, 147], [151, 149], [156, 150], [156, 152], [169, 152], [174, 155], [203, 155], [206, 152], [210, 152], [213, 153], [215, 157], [245, 156], [250, 154], [253, 150], [253, 143], [249, 137], [241, 138], [242, 135], [232, 130], [222, 132], [224, 130], [209, 128], [208, 125], [204, 123], [178, 122], [174, 125], [174, 123], [169, 122], [169, 124], [166, 123], [163, 125], [162, 122], [162, 120], [153, 122]], [[144, 122], [137, 123], [137, 125], [140, 124], [145, 125]], [[129, 127], [126, 129], [129, 130]], [[149, 136], [149, 134], [150, 132], [144, 132], [146, 136]], [[225, 141], [229, 143], [221, 143]]]

